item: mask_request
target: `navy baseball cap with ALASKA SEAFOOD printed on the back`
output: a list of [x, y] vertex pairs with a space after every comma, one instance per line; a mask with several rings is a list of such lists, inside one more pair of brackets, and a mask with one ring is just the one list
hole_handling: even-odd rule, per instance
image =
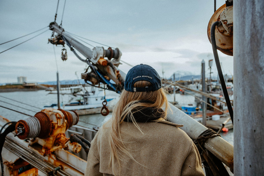
[[[149, 87], [134, 87], [137, 81], [148, 81], [152, 83]], [[132, 67], [125, 79], [125, 90], [129, 92], [149, 92], [161, 88], [161, 79], [156, 70], [149, 65], [140, 64]]]

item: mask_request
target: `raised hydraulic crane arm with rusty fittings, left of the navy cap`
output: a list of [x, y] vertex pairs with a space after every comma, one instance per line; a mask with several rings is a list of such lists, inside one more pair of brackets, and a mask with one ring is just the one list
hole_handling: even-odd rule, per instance
[[[109, 89], [116, 92], [120, 91], [121, 87], [124, 86], [126, 74], [117, 69], [122, 55], [118, 48], [112, 49], [109, 47], [105, 50], [103, 47], [97, 46], [91, 50], [77, 41], [74, 37], [67, 34], [56, 22], [50, 23], [50, 30], [53, 31], [53, 34], [56, 33], [55, 36], [52, 36], [53, 38], [49, 39], [50, 43], [63, 46], [66, 43], [80, 60], [86, 62], [89, 67], [91, 67], [91, 72], [82, 73], [82, 79], [92, 82], [93, 85], [102, 82], [107, 84]], [[79, 57], [75, 50], [79, 51], [86, 59], [84, 60]], [[105, 57], [107, 57], [107, 59], [104, 59]], [[112, 58], [113, 60], [111, 60]], [[116, 84], [112, 84], [110, 79]]]

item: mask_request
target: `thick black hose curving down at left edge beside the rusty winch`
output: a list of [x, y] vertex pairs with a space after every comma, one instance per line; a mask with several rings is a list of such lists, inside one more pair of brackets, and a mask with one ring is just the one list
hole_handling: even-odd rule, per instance
[[1, 163], [2, 176], [4, 176], [4, 164], [3, 164], [3, 159], [2, 159], [2, 149], [3, 149], [3, 146], [4, 146], [4, 142], [6, 140], [6, 135], [8, 133], [11, 133], [12, 131], [15, 131], [15, 126], [16, 126], [16, 122], [8, 122], [1, 128], [1, 131], [9, 123], [11, 123], [11, 125], [9, 125], [6, 128], [6, 130], [2, 134], [0, 134], [0, 163]]

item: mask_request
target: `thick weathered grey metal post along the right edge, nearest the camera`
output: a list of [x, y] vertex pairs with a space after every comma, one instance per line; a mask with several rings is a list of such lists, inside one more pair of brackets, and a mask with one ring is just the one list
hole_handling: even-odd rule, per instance
[[233, 1], [234, 175], [263, 175], [264, 1]]

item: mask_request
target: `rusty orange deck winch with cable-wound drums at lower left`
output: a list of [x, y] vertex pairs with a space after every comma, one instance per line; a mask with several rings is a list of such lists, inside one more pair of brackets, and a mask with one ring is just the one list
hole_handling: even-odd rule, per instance
[[16, 136], [20, 139], [29, 138], [30, 147], [44, 156], [61, 148], [78, 153], [82, 146], [71, 143], [65, 135], [65, 131], [78, 121], [79, 116], [75, 111], [43, 109], [32, 117], [19, 120], [16, 123]]

